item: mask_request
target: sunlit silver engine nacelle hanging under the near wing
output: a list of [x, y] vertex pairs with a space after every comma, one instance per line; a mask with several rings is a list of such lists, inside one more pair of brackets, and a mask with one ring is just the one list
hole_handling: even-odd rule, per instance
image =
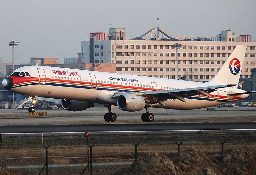
[[120, 110], [138, 111], [145, 107], [144, 98], [136, 95], [123, 94], [117, 98], [117, 106]]

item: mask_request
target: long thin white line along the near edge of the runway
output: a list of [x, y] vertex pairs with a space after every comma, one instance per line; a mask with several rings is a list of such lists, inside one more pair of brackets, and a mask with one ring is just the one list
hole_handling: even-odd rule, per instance
[[[153, 132], [189, 132], [189, 131], [254, 131], [256, 129], [205, 129], [205, 130], [156, 130], [156, 131], [89, 131], [88, 133], [153, 133]], [[84, 131], [85, 132], [85, 131]], [[72, 134], [84, 132], [47, 132], [43, 134]], [[2, 133], [2, 134], [42, 134], [42, 133]]]

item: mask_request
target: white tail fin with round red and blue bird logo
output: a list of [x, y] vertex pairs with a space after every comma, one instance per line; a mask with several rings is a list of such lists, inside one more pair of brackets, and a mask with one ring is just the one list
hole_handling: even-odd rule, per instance
[[244, 55], [247, 46], [237, 45], [228, 59], [220, 68], [214, 78], [209, 81], [212, 84], [238, 84], [242, 66], [244, 63]]

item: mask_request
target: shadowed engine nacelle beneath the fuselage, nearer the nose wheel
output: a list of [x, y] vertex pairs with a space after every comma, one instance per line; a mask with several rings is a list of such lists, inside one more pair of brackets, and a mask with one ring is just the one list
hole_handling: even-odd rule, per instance
[[91, 108], [94, 106], [92, 102], [85, 102], [85, 101], [77, 101], [77, 100], [61, 100], [61, 106], [65, 110], [69, 111], [80, 111], [86, 110], [87, 108]]

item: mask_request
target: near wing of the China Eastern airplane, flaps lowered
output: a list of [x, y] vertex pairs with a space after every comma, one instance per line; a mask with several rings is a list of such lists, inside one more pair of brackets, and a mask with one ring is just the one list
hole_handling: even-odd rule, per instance
[[[152, 96], [151, 101], [149, 103], [159, 103], [164, 105], [164, 101], [168, 99], [178, 99], [182, 102], [186, 103], [184, 97], [193, 96], [193, 95], [205, 95], [210, 96], [209, 93], [216, 91], [218, 88], [227, 88], [237, 86], [235, 84], [226, 84], [226, 85], [215, 85], [215, 86], [206, 86], [206, 87], [196, 87], [196, 88], [184, 88], [184, 89], [173, 89], [173, 90], [161, 90], [161, 91], [148, 91], [148, 92], [134, 92], [129, 93], [130, 95], [139, 95], [142, 97]], [[113, 97], [118, 97], [123, 93], [116, 93]]]

